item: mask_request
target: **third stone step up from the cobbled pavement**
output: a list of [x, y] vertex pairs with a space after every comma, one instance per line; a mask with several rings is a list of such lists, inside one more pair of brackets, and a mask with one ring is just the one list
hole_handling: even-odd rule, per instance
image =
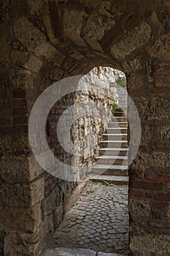
[[125, 156], [100, 156], [95, 157], [97, 165], [128, 165], [128, 157]]

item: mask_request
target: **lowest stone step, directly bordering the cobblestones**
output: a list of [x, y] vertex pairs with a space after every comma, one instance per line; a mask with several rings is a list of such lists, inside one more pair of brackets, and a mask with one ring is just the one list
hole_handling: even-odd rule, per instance
[[96, 182], [108, 181], [112, 184], [117, 184], [117, 185], [127, 185], [128, 184], [128, 176], [99, 175], [99, 176], [91, 177], [90, 180], [96, 181]]

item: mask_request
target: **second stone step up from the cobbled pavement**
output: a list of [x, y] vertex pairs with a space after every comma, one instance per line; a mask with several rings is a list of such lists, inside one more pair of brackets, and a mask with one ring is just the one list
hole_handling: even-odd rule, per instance
[[94, 165], [93, 175], [128, 176], [128, 165]]

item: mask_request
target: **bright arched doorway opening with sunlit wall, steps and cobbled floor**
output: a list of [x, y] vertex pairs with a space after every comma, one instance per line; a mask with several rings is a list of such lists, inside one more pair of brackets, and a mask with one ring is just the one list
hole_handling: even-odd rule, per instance
[[[67, 110], [60, 115], [55, 105], [58, 126], [61, 125], [61, 147], [67, 146], [68, 153], [68, 143], [74, 143], [70, 161], [68, 155], [64, 157], [63, 154], [63, 165], [72, 165], [72, 176], [79, 181], [78, 186], [80, 181], [86, 183], [80, 199], [65, 214], [47, 244], [45, 255], [53, 255], [57, 250], [59, 254], [69, 253], [69, 250], [72, 253], [73, 249], [77, 253], [90, 249], [87, 254], [129, 253], [128, 97], [125, 85], [123, 72], [96, 67], [80, 78], [75, 87], [72, 111], [68, 104]], [[71, 80], [69, 86], [72, 86]], [[70, 99], [68, 95], [66, 101]], [[68, 132], [72, 134], [72, 141], [69, 137], [66, 140]], [[61, 162], [60, 168], [63, 169]], [[53, 175], [58, 177], [58, 172]], [[69, 178], [65, 176], [64, 179]]]

